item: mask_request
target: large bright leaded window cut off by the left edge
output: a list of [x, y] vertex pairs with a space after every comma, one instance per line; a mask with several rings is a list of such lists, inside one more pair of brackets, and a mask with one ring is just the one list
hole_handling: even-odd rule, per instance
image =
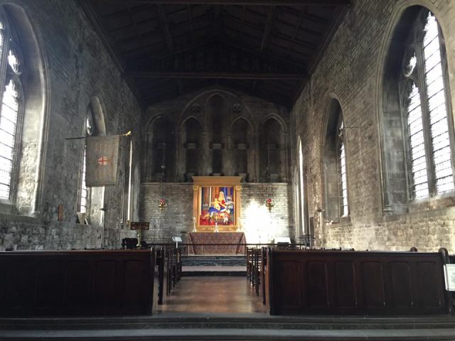
[[14, 202], [23, 120], [23, 58], [16, 33], [1, 14], [0, 199]]

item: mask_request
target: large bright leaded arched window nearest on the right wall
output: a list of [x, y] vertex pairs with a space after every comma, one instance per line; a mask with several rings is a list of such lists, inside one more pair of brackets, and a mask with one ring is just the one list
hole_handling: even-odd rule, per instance
[[402, 57], [400, 105], [410, 198], [454, 190], [445, 50], [433, 13], [419, 11]]

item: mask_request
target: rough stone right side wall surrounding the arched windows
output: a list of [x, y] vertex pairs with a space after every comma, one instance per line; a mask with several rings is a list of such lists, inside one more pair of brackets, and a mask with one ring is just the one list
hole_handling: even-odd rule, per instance
[[[343, 111], [350, 215], [338, 224], [316, 224], [316, 244], [322, 247], [455, 251], [453, 200], [432, 197], [412, 203], [407, 213], [388, 217], [383, 202], [384, 173], [380, 146], [380, 70], [393, 23], [406, 6], [427, 6], [444, 33], [452, 108], [455, 104], [455, 3], [453, 1], [353, 1], [314, 74], [291, 111], [304, 145], [309, 215], [323, 209], [323, 134], [331, 99]], [[293, 168], [297, 166], [293, 158]]]

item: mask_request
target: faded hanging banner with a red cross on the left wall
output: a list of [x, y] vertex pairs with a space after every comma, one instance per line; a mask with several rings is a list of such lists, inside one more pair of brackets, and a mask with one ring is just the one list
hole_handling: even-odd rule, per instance
[[93, 136], [85, 139], [87, 187], [117, 184], [120, 136]]

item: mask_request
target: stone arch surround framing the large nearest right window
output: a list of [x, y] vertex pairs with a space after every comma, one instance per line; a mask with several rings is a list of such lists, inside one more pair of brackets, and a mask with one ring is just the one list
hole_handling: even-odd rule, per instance
[[[412, 33], [414, 21], [419, 13], [427, 9], [437, 18], [442, 36], [447, 31], [446, 23], [440, 21], [440, 11], [431, 1], [400, 1], [387, 23], [385, 36], [380, 46], [380, 58], [376, 69], [375, 108], [378, 119], [378, 139], [380, 162], [380, 195], [382, 214], [400, 214], [408, 212], [410, 197], [409, 165], [407, 165], [407, 141], [405, 125], [400, 108], [399, 83], [403, 55], [407, 49], [407, 37]], [[442, 38], [444, 40], [444, 38]], [[443, 63], [450, 67], [449, 49]], [[450, 69], [449, 69], [450, 70]], [[446, 82], [446, 93], [453, 86], [453, 80]], [[449, 107], [453, 107], [454, 98], [447, 98]], [[451, 102], [450, 102], [451, 101]], [[454, 121], [449, 114], [449, 126], [453, 134]], [[453, 139], [453, 137], [452, 137]], [[453, 161], [452, 161], [453, 162]]]

